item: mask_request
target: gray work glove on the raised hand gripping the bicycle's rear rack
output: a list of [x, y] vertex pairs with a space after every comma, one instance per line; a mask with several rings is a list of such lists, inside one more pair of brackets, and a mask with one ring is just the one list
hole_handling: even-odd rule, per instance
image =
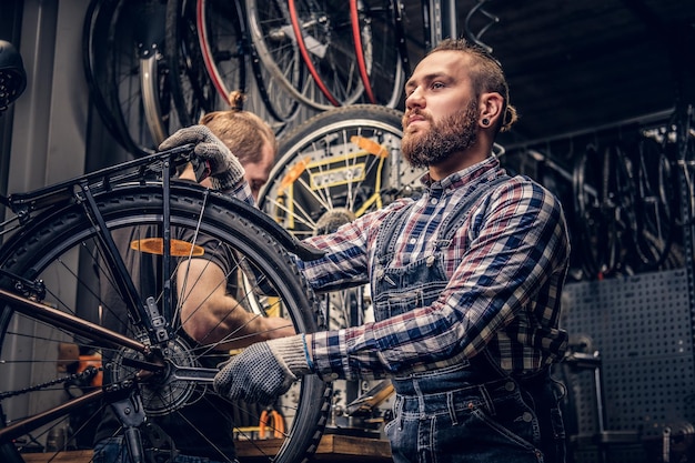
[[193, 151], [198, 160], [208, 163], [212, 188], [215, 190], [231, 190], [244, 177], [244, 168], [239, 159], [205, 125], [179, 129], [164, 140], [159, 149], [163, 151], [188, 143], [195, 143]]

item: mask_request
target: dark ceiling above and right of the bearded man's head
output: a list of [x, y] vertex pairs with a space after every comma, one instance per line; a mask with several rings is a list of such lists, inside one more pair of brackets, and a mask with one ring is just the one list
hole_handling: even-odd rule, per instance
[[[421, 1], [404, 7], [409, 22], [423, 17]], [[459, 0], [459, 36], [470, 13], [521, 114], [503, 144], [659, 117], [677, 88], [695, 103], [695, 0]], [[415, 61], [426, 42], [421, 24], [409, 31]]]

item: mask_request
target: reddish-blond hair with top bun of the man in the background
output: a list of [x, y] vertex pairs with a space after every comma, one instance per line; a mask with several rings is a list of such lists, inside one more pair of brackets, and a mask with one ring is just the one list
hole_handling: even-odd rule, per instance
[[244, 99], [242, 92], [233, 91], [229, 97], [230, 110], [209, 112], [200, 119], [200, 123], [207, 125], [242, 164], [259, 162], [266, 142], [278, 153], [275, 133], [256, 114], [243, 110]]

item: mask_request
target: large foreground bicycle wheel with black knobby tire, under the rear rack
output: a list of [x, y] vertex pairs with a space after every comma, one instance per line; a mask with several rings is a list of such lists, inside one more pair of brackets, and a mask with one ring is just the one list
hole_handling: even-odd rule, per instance
[[[163, 201], [161, 185], [140, 183], [115, 188], [111, 192], [97, 197], [95, 202], [110, 235], [128, 233], [133, 236], [130, 248], [133, 243], [141, 242], [140, 235], [141, 232], [144, 233], [144, 229], [151, 232], [150, 238], [162, 236], [163, 208], [167, 205], [171, 212], [172, 238], [180, 236], [181, 231], [187, 232], [189, 236], [208, 236], [220, 243], [219, 250], [225, 249], [235, 256], [239, 269], [242, 269], [239, 274], [248, 276], [243, 279], [243, 284], [238, 285], [238, 301], [242, 303], [246, 300], [255, 301], [254, 303], [263, 311], [273, 311], [276, 315], [288, 318], [298, 332], [311, 332], [319, 328], [313, 293], [300, 278], [292, 260], [263, 227], [250, 222], [248, 213], [240, 212], [234, 201], [220, 194], [208, 194], [205, 190], [197, 185], [179, 183], [172, 185], [171, 200]], [[119, 278], [123, 278], [134, 288], [142, 286], [140, 286], [141, 281], [135, 270], [121, 274], [105, 268], [103, 262], [108, 255], [105, 252], [108, 246], [104, 245], [104, 234], [100, 230], [103, 228], [93, 223], [85, 215], [84, 207], [78, 203], [37, 217], [26, 230], [3, 246], [0, 254], [1, 288], [12, 291], [18, 281], [13, 275], [21, 276], [22, 282], [42, 281], [44, 290], [34, 294], [37, 299], [39, 294], [44, 293], [44, 296], [38, 299], [40, 304], [53, 306], [60, 313], [73, 314], [81, 324], [83, 321], [92, 321], [99, 326], [109, 326], [110, 322], [119, 315], [111, 312], [112, 302], [99, 298], [93, 273], [99, 271], [107, 275], [105, 279], [100, 280], [102, 285], [112, 284], [119, 281]], [[142, 234], [142, 239], [144, 238], [145, 235]], [[198, 240], [188, 244], [178, 243], [183, 244], [185, 249], [184, 252], [178, 254], [181, 256], [172, 255], [182, 260], [179, 268], [184, 268], [182, 265], [185, 265], [185, 260], [189, 259], [189, 250], [194, 249], [191, 244], [197, 243]], [[129, 248], [128, 244], [125, 242], [125, 248]], [[143, 244], [143, 248], [147, 245]], [[153, 254], [147, 255], [162, 260], [163, 258], [158, 254], [161, 251], [157, 251], [155, 246], [152, 249]], [[130, 255], [144, 254], [135, 251], [135, 254]], [[168, 308], [161, 302], [168, 300], [167, 289], [171, 289], [171, 284], [168, 283], [175, 281], [172, 280], [175, 268], [177, 265], [171, 265], [171, 274], [163, 273], [168, 276], [160, 278], [161, 292], [158, 290], [152, 294], [138, 294], [141, 300], [152, 296], [155, 305], [159, 304], [157, 305], [159, 314], [177, 314], [177, 305]], [[162, 266], [162, 272], [164, 272], [163, 269], [164, 266]], [[252, 274], [248, 272], [249, 269], [253, 270]], [[259, 281], [264, 282], [263, 293], [271, 292], [272, 296], [255, 296], [260, 291], [251, 282]], [[29, 290], [29, 288], [26, 289]], [[3, 391], [1, 403], [3, 427], [0, 429], [0, 456], [2, 461], [21, 462], [23, 461], [22, 452], [46, 451], [47, 444], [49, 446], [51, 444], [51, 440], [47, 441], [47, 436], [54, 435], [51, 430], [58, 427], [69, 430], [69, 436], [61, 447], [52, 449], [53, 453], [59, 453], [64, 447], [89, 446], [91, 444], [89, 434], [93, 432], [94, 420], [105, 406], [105, 401], [97, 402], [95, 405], [90, 404], [90, 406], [94, 405], [94, 410], [87, 405], [80, 406], [82, 404], [79, 403], [78, 409], [71, 415], [66, 409], [62, 413], [49, 415], [48, 422], [37, 423], [37, 425], [22, 424], [27, 423], [22, 420], [40, 416], [42, 413], [54, 410], [56, 406], [68, 406], [68, 403], [74, 403], [69, 402], [70, 396], [79, 396], [75, 401], [80, 401], [94, 394], [93, 391], [113, 391], [117, 385], [132, 380], [138, 370], [143, 364], [147, 365], [147, 359], [143, 358], [142, 352], [133, 350], [133, 344], [138, 344], [139, 340], [143, 339], [142, 326], [147, 326], [147, 323], [137, 319], [132, 320], [132, 323], [123, 322], [137, 330], [129, 332], [125, 340], [121, 340], [122, 345], [119, 346], [107, 342], [108, 338], [104, 334], [92, 332], [95, 330], [93, 328], [75, 334], [68, 330], [68, 325], [37, 321], [32, 318], [36, 315], [34, 312], [30, 311], [27, 315], [19, 310], [17, 303], [3, 302], [1, 306], [0, 391]], [[190, 348], [190, 342], [182, 334], [178, 316], [172, 315], [165, 320], [153, 318], [153, 320], [161, 322], [152, 324], [155, 330], [167, 324], [172, 326], [172, 336], [170, 340], [164, 340], [162, 345], [165, 349], [160, 351], [164, 363], [173, 362], [184, 368], [204, 364], [207, 356], [211, 354], [211, 346]], [[61, 346], [62, 350], [59, 349]], [[64, 353], [70, 352], [68, 348], [71, 346], [74, 346], [74, 353]], [[152, 346], [157, 348], [157, 344], [152, 343]], [[92, 382], [93, 378], [75, 372], [81, 360], [78, 354], [102, 355], [104, 373], [110, 373], [103, 375], [103, 389]], [[57, 371], [58, 366], [66, 371]], [[167, 371], [163, 376], [155, 374], [138, 378], [144, 404], [143, 410], [150, 416], [167, 413], [179, 414], [184, 405], [210, 397], [210, 395], [201, 395], [203, 392], [211, 392], [209, 383], [205, 385], [197, 381], [180, 380], [169, 375]], [[114, 382], [109, 383], [109, 379], [113, 379]], [[288, 395], [281, 397], [275, 404], [275, 409], [283, 414], [288, 423], [282, 434], [284, 440], [275, 441], [273, 445], [262, 445], [268, 441], [248, 441], [244, 445], [253, 446], [253, 453], [260, 456], [265, 455], [268, 461], [290, 463], [305, 460], [321, 437], [321, 429], [325, 424], [329, 411], [328, 395], [328, 387], [316, 376], [302, 379]], [[74, 420], [75, 415], [79, 420]], [[216, 422], [214, 416], [204, 419]], [[258, 423], [260, 416], [250, 419]], [[191, 429], [188, 432], [197, 433], [198, 431]], [[246, 435], [243, 434], [243, 430], [239, 432]], [[210, 445], [213, 444], [210, 443]], [[218, 460], [224, 461], [221, 457]]]

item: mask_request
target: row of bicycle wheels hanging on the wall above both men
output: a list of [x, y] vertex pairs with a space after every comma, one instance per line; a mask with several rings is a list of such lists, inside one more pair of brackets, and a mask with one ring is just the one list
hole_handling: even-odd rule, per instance
[[404, 43], [391, 0], [92, 0], [83, 61], [104, 127], [138, 157], [233, 90], [258, 94], [278, 132], [300, 107], [394, 108]]

